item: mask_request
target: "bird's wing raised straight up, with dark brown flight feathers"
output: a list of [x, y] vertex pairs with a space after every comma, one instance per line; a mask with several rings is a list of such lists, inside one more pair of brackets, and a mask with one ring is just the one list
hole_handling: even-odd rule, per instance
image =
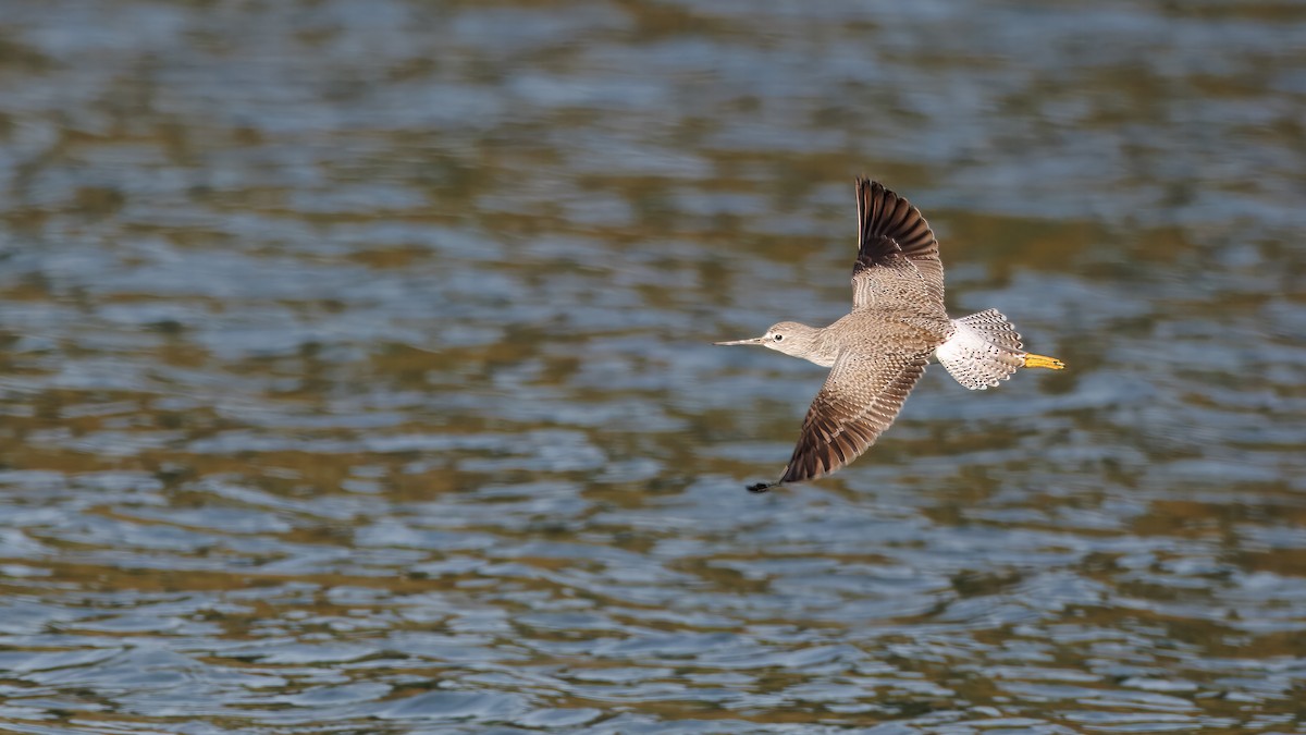
[[939, 241], [919, 209], [879, 182], [858, 178], [857, 237], [854, 310], [887, 298], [943, 311]]

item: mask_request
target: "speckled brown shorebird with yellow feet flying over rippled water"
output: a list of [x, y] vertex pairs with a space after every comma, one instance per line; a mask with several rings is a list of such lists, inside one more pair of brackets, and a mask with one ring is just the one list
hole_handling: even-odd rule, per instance
[[857, 237], [846, 316], [828, 327], [780, 322], [760, 337], [714, 343], [757, 344], [831, 369], [785, 473], [750, 485], [752, 492], [815, 480], [861, 456], [893, 422], [931, 358], [981, 391], [1021, 368], [1066, 366], [1021, 349], [1020, 335], [996, 309], [949, 319], [934, 230], [906, 199], [863, 178], [857, 179]]

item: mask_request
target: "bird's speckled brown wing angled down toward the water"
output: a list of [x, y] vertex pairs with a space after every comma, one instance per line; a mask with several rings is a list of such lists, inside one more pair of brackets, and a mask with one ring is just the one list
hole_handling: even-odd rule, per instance
[[829, 475], [866, 451], [893, 422], [927, 360], [927, 352], [840, 354], [807, 409], [798, 446], [780, 481]]

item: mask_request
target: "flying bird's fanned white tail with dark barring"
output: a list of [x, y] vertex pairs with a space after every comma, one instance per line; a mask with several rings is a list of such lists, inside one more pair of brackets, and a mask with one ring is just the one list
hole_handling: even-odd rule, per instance
[[952, 336], [934, 354], [963, 386], [982, 391], [1024, 366], [1020, 335], [996, 309], [953, 319], [952, 326]]

